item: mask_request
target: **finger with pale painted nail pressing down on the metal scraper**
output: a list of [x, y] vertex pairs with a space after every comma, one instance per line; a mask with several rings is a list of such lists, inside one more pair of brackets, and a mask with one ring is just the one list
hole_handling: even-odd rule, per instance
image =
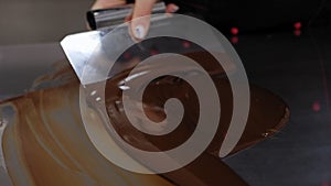
[[[136, 0], [132, 20], [131, 20], [131, 33], [134, 37], [142, 40], [149, 30], [150, 15], [153, 4], [157, 0]], [[141, 18], [143, 17], [143, 18]]]

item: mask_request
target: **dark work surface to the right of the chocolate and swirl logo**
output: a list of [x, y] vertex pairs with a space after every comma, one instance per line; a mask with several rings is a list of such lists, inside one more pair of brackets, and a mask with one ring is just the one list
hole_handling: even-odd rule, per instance
[[[225, 160], [253, 186], [331, 185], [331, 28], [242, 35], [235, 45], [252, 84], [291, 111], [276, 136]], [[261, 113], [263, 114], [263, 113]]]

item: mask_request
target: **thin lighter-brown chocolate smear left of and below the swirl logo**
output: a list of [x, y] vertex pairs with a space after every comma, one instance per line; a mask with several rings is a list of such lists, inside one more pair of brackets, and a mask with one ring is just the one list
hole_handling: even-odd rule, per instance
[[17, 121], [6, 129], [2, 146], [14, 185], [172, 185], [118, 168], [97, 153], [81, 121], [77, 83], [10, 103]]

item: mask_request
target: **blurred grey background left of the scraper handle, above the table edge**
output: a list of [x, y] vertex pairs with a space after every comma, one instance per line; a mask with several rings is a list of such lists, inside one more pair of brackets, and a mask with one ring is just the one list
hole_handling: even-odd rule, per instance
[[84, 31], [93, 0], [0, 0], [0, 45], [60, 42]]

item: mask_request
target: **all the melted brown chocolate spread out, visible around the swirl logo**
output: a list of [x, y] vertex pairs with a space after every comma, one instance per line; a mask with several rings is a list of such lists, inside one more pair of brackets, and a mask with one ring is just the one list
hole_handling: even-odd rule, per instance
[[[170, 97], [179, 98], [185, 108], [178, 129], [166, 136], [154, 136], [132, 128], [120, 109], [121, 89], [118, 85], [128, 73], [115, 76], [106, 86], [108, 116], [122, 139], [136, 147], [151, 151], [169, 150], [185, 141], [195, 129], [199, 116], [197, 98], [190, 85], [175, 77], [162, 77], [149, 84], [143, 103], [151, 120], [164, 119], [163, 103]], [[63, 77], [66, 84], [57, 88], [35, 90], [2, 102], [2, 106], [15, 109], [14, 122], [6, 128], [2, 140], [6, 165], [15, 186], [247, 185], [218, 158], [232, 117], [232, 92], [226, 79], [217, 75], [212, 77], [220, 91], [222, 113], [217, 133], [207, 150], [181, 169], [143, 175], [117, 167], [92, 144], [82, 123], [79, 84], [71, 68], [42, 80], [53, 83]], [[277, 96], [254, 86], [250, 90], [248, 123], [232, 154], [273, 135], [289, 118], [286, 105]]]

